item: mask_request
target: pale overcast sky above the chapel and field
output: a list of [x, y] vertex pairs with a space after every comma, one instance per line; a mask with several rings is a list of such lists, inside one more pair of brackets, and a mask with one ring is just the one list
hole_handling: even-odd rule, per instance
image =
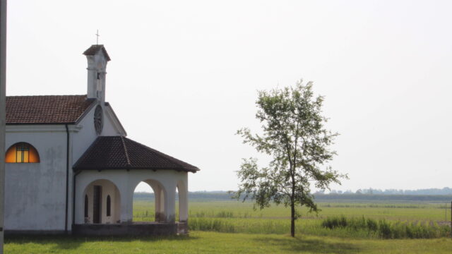
[[[107, 101], [128, 137], [201, 169], [190, 191], [234, 190], [234, 135], [257, 90], [314, 81], [340, 136], [337, 190], [452, 179], [452, 1], [8, 1], [7, 95], [86, 93], [105, 44]], [[143, 191], [145, 188], [138, 188]]]

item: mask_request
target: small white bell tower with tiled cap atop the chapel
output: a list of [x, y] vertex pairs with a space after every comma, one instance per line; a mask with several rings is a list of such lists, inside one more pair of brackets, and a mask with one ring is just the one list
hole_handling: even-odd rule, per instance
[[88, 99], [105, 102], [105, 76], [107, 62], [110, 61], [107, 50], [104, 45], [93, 45], [83, 54], [88, 60]]

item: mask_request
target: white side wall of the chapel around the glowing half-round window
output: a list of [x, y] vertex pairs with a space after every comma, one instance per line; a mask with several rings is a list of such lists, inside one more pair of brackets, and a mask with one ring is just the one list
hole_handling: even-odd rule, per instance
[[18, 142], [33, 145], [40, 163], [6, 163], [5, 229], [64, 230], [66, 205], [66, 129], [26, 131], [8, 126], [6, 149]]

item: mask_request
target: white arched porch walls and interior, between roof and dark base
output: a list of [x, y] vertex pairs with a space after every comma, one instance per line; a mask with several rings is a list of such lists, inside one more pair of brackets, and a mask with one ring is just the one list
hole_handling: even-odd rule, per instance
[[[138, 183], [148, 183], [155, 193], [155, 222], [186, 222], [188, 219], [188, 190], [187, 190], [187, 172], [174, 170], [104, 170], [104, 171], [82, 171], [76, 176], [76, 218], [75, 224], [85, 224], [85, 196], [87, 189], [91, 190], [96, 181], [109, 182], [119, 193], [119, 199], [115, 200], [110, 195], [115, 212], [119, 217], [114, 220], [102, 220], [107, 223], [131, 223], [133, 222], [133, 192]], [[179, 193], [179, 218], [176, 218], [176, 193]], [[94, 193], [88, 193], [88, 203], [93, 203]], [[107, 195], [103, 193], [103, 198]], [[114, 205], [113, 205], [114, 204]], [[102, 203], [102, 207], [107, 205]], [[93, 207], [88, 207], [90, 219], [88, 223], [93, 223], [93, 215], [90, 211]], [[106, 210], [105, 210], [106, 212]], [[115, 215], [116, 216], [116, 215]]]

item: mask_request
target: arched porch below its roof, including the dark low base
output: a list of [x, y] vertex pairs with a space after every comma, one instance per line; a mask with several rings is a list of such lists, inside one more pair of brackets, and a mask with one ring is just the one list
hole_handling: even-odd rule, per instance
[[[187, 232], [188, 219], [187, 180], [187, 172], [176, 170], [81, 171], [76, 178], [75, 232], [96, 235], [177, 234], [178, 232], [184, 234]], [[133, 223], [133, 193], [138, 183], [142, 181], [148, 183], [155, 193], [155, 222]], [[97, 191], [95, 191], [96, 188]], [[112, 189], [114, 192], [105, 191]], [[94, 220], [94, 203], [95, 195], [99, 194], [95, 192], [101, 192], [103, 200], [100, 203], [102, 217], [96, 220]], [[177, 193], [179, 196], [178, 218], [176, 218]], [[88, 201], [85, 198], [88, 198]], [[88, 202], [87, 210], [85, 210], [85, 202]], [[109, 216], [107, 216], [107, 202], [111, 205]]]

